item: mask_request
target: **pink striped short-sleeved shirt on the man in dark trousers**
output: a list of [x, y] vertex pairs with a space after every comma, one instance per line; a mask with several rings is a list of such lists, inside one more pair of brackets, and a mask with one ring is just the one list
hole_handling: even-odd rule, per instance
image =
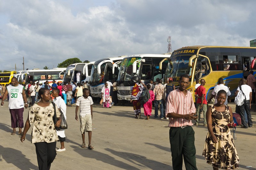
[[[187, 90], [186, 90], [187, 91]], [[165, 115], [168, 113], [191, 114], [196, 112], [196, 107], [192, 95], [187, 91], [187, 95], [179, 89], [171, 91], [167, 97]], [[169, 127], [192, 126], [191, 120], [182, 118], [170, 118]]]

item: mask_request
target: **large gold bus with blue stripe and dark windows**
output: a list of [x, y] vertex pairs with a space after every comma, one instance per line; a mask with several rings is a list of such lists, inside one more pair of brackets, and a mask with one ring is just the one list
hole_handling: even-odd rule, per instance
[[240, 79], [247, 78], [250, 69], [254, 70], [254, 74], [256, 73], [256, 65], [250, 68], [254, 58], [256, 58], [255, 47], [182, 47], [172, 52], [166, 68], [165, 80], [172, 77], [175, 87], [178, 88], [180, 76], [188, 74], [190, 77], [188, 91], [195, 97], [196, 80], [204, 79], [206, 99], [209, 99], [219, 78], [223, 78], [224, 84], [231, 92], [230, 98], [234, 99]]

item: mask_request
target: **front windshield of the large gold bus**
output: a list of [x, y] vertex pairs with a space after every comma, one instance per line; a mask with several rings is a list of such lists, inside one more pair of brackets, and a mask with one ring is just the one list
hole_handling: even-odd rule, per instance
[[165, 80], [169, 77], [173, 78], [173, 81], [178, 81], [176, 77], [180, 77], [182, 74], [188, 74], [191, 77], [192, 67], [188, 66], [188, 60], [192, 55], [179, 55], [171, 57], [166, 68]]

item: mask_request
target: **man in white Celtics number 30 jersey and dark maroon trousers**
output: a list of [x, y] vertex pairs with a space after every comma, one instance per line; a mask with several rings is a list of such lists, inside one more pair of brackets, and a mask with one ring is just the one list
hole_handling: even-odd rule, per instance
[[[25, 90], [23, 86], [18, 84], [17, 78], [12, 77], [11, 86], [7, 86], [7, 90], [5, 90], [4, 95], [2, 97], [1, 106], [4, 105], [4, 99], [6, 96], [9, 96], [9, 110], [11, 113], [11, 122], [12, 122], [12, 133], [11, 135], [16, 134], [16, 128], [19, 128], [18, 135], [22, 135], [22, 128], [24, 127], [23, 123], [23, 111], [24, 111], [24, 102], [25, 108], [28, 108], [27, 97], [25, 94]], [[23, 99], [22, 99], [23, 98]], [[18, 126], [19, 125], [19, 126]]]

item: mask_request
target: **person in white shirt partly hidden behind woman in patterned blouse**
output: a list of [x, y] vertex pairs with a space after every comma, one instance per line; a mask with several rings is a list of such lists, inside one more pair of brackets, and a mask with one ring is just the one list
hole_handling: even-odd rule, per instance
[[[66, 106], [64, 100], [59, 96], [59, 93], [60, 93], [59, 89], [52, 90], [52, 96], [54, 97], [53, 102], [57, 105], [58, 109], [61, 110], [65, 119], [67, 120], [67, 116], [66, 116], [67, 106]], [[64, 141], [66, 141], [65, 130], [64, 129], [58, 130], [57, 135], [60, 140], [60, 149], [58, 149], [56, 151], [57, 152], [66, 151], [66, 148], [64, 146]]]

